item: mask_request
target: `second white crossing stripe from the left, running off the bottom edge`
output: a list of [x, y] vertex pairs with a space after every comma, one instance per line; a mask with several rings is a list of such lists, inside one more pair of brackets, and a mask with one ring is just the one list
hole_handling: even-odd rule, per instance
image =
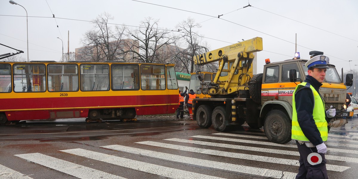
[[20, 158], [23, 158], [25, 160], [31, 161], [33, 163], [37, 163], [43, 166], [46, 166], [48, 168], [52, 168], [54, 170], [61, 171], [63, 173], [76, 176], [77, 178], [118, 178], [118, 179], [125, 179], [122, 177], [119, 177], [117, 175], [112, 175], [100, 170], [95, 170], [88, 168], [86, 166], [78, 165], [71, 163], [69, 161], [61, 160], [54, 158], [52, 156], [43, 155], [40, 153], [32, 153], [32, 154], [19, 154], [15, 155]]

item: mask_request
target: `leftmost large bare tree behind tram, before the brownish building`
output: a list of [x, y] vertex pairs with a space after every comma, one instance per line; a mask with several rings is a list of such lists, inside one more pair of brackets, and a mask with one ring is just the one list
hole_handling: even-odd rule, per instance
[[84, 47], [78, 52], [77, 59], [95, 62], [124, 59], [125, 27], [115, 26], [112, 30], [109, 20], [113, 20], [113, 16], [108, 13], [103, 13], [93, 20], [94, 29], [89, 30], [81, 39]]

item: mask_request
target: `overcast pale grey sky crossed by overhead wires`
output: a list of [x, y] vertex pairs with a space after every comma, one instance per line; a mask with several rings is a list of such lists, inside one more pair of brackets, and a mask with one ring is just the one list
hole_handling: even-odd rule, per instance
[[[163, 29], [176, 29], [179, 22], [193, 18], [202, 25], [197, 31], [207, 37], [204, 40], [211, 50], [237, 43], [241, 39], [262, 37], [263, 51], [257, 53], [258, 73], [263, 71], [266, 58], [277, 62], [294, 57], [296, 33], [297, 51], [301, 58], [308, 59], [309, 51], [318, 50], [330, 58], [330, 63], [339, 72], [341, 68], [345, 71], [358, 69], [358, 66], [354, 66], [358, 65], [356, 0], [14, 1], [24, 6], [29, 16], [30, 61], [60, 61], [62, 42], [57, 37], [63, 40], [66, 53], [68, 31], [69, 51], [74, 52], [75, 48], [82, 47], [80, 39], [93, 27], [87, 21], [107, 12], [114, 17], [110, 23], [138, 26], [140, 21], [151, 17], [159, 19], [159, 27]], [[252, 7], [243, 8], [249, 3]], [[21, 55], [27, 58], [26, 13], [21, 6], [0, 0], [0, 43], [23, 50], [25, 53]], [[52, 18], [52, 14], [56, 18]], [[221, 14], [224, 15], [220, 19], [211, 17]], [[15, 50], [0, 46], [0, 54], [5, 53], [15, 53]]]

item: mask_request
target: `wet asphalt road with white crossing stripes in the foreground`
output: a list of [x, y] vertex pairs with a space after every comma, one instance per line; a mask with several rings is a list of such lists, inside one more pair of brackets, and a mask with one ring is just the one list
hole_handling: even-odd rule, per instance
[[[31, 121], [0, 126], [0, 178], [292, 178], [294, 146], [273, 144], [247, 126], [218, 132], [174, 115]], [[358, 118], [332, 128], [327, 146], [329, 177], [357, 178]]]

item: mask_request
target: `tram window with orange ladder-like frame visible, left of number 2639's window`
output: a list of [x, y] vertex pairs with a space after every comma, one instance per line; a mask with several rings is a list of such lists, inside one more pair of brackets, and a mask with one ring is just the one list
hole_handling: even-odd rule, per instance
[[14, 64], [15, 92], [44, 92], [46, 77], [44, 64]]

